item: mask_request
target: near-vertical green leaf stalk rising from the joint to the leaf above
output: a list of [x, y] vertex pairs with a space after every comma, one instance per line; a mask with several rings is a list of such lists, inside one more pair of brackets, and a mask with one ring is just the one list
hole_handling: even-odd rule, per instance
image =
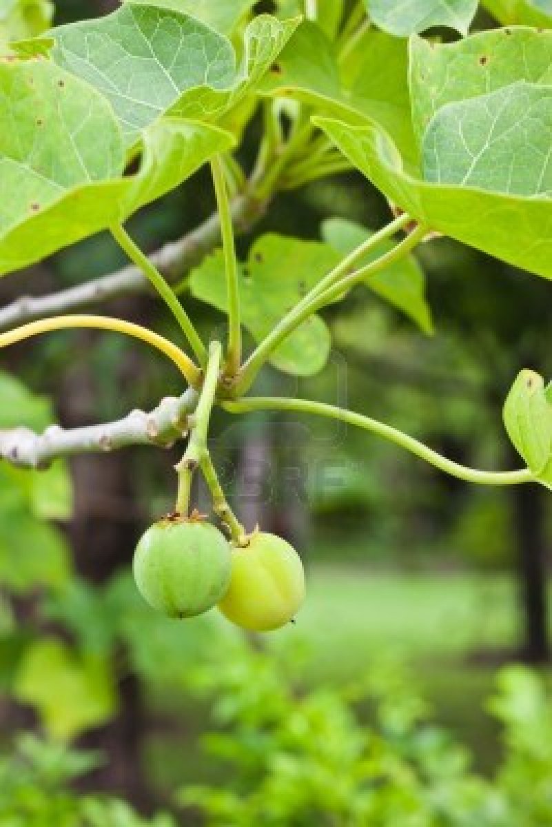
[[217, 196], [218, 214], [221, 219], [222, 247], [226, 269], [226, 295], [228, 300], [228, 352], [226, 354], [226, 371], [229, 376], [235, 376], [240, 370], [241, 362], [241, 327], [240, 327], [240, 294], [238, 292], [238, 277], [236, 264], [236, 247], [234, 245], [234, 230], [232, 228], [232, 213], [224, 167], [219, 156], [211, 161], [212, 179]]

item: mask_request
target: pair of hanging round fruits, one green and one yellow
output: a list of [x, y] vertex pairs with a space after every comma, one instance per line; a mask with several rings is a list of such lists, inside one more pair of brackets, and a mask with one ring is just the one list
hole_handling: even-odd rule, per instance
[[301, 560], [289, 543], [255, 531], [231, 546], [201, 519], [169, 516], [136, 547], [140, 594], [171, 617], [193, 617], [218, 604], [243, 629], [265, 632], [293, 619], [305, 595]]

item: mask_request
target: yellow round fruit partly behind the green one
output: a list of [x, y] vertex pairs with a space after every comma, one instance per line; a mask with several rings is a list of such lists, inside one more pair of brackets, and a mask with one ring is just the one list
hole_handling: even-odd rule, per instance
[[305, 572], [297, 552], [275, 534], [256, 532], [232, 548], [230, 587], [219, 609], [251, 632], [269, 632], [293, 620], [305, 598]]

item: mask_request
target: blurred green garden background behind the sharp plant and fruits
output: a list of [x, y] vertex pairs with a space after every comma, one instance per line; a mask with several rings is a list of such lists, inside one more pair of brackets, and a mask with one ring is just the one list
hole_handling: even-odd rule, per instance
[[[113, 5], [59, 0], [56, 20]], [[258, 133], [254, 120], [246, 166]], [[152, 250], [213, 206], [202, 171], [131, 232]], [[319, 238], [335, 217], [378, 227], [388, 207], [356, 174], [307, 184], [276, 199], [240, 256], [263, 232]], [[552, 373], [550, 285], [446, 239], [418, 258], [434, 336], [354, 292], [327, 313], [326, 370], [298, 383], [269, 370], [262, 390], [347, 404], [470, 465], [516, 466], [502, 400], [521, 367]], [[3, 279], [0, 298], [123, 263], [94, 237]], [[187, 302], [202, 332], [220, 330]], [[174, 333], [147, 295], [108, 310]], [[0, 428], [117, 418], [179, 390], [157, 356], [89, 332], [19, 346], [2, 371]], [[217, 414], [214, 427], [236, 511], [307, 567], [297, 623], [263, 639], [215, 612], [159, 618], [136, 595], [133, 548], [170, 507], [178, 450], [0, 467], [0, 825], [552, 824], [545, 492], [470, 487], [330, 423]]]

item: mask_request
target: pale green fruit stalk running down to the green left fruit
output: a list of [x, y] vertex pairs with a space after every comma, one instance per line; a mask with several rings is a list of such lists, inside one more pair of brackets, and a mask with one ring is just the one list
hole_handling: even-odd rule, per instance
[[217, 384], [221, 370], [222, 347], [220, 342], [212, 342], [209, 346], [207, 356], [207, 367], [202, 390], [199, 394], [199, 402], [193, 414], [192, 436], [183, 458], [176, 466], [178, 474], [178, 494], [175, 510], [178, 514], [188, 514], [190, 494], [192, 491], [193, 472], [202, 461], [203, 454], [207, 451], [207, 431], [209, 419], [211, 418], [212, 406], [215, 402]]

